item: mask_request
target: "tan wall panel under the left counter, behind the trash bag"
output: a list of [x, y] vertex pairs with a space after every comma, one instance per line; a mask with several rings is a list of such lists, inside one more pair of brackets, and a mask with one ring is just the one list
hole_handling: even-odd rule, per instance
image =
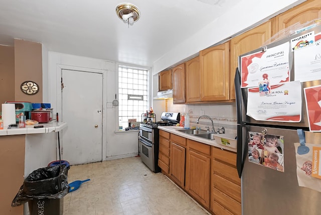
[[24, 182], [25, 139], [26, 135], [0, 137], [1, 214], [23, 214], [24, 207], [12, 207], [11, 202]]

